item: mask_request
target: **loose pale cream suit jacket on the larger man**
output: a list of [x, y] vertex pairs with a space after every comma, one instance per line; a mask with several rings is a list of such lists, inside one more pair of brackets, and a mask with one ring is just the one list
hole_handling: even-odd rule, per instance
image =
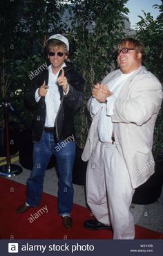
[[[106, 85], [121, 73], [120, 69], [111, 72], [102, 83]], [[91, 99], [88, 109], [90, 103]], [[153, 131], [161, 103], [162, 85], [142, 66], [128, 78], [115, 100], [112, 116], [115, 144], [124, 157], [133, 189], [142, 185], [154, 172], [155, 162], [151, 152]], [[97, 124], [100, 112], [101, 109], [93, 117], [90, 126], [81, 157], [84, 161], [89, 159], [99, 139]]]

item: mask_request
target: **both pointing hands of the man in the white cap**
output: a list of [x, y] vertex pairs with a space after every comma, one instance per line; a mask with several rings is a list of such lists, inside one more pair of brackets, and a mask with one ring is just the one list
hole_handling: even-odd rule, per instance
[[[59, 76], [59, 78], [57, 78], [57, 83], [59, 86], [62, 86], [63, 91], [66, 93], [67, 89], [68, 89], [68, 80], [66, 78], [66, 76], [64, 76], [64, 69], [61, 69], [61, 75]], [[44, 84], [41, 85], [39, 87], [39, 96], [46, 96], [47, 92], [48, 92], [48, 85], [46, 85], [45, 81]]]

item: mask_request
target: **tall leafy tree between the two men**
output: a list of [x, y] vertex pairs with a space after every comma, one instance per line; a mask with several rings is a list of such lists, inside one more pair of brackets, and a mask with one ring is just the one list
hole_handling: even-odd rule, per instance
[[68, 6], [71, 15], [70, 42], [74, 54], [70, 60], [79, 67], [86, 80], [84, 105], [77, 116], [78, 141], [84, 146], [88, 127], [86, 102], [93, 83], [101, 81], [115, 67], [115, 45], [124, 37], [124, 7], [126, 0], [71, 0]]

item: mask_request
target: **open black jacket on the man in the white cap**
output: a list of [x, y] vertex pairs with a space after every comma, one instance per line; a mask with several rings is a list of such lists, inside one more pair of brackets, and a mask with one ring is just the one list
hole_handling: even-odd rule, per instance
[[[55, 139], [64, 140], [70, 135], [74, 135], [74, 114], [81, 107], [83, 102], [84, 92], [84, 78], [72, 67], [64, 67], [64, 73], [68, 80], [69, 92], [64, 96], [61, 86], [59, 87], [61, 104], [55, 120]], [[59, 76], [61, 71], [59, 72]], [[43, 85], [46, 81], [48, 84], [48, 69], [41, 71], [41, 73], [32, 80], [32, 87], [25, 96], [25, 104], [28, 110], [34, 113], [32, 121], [32, 141], [39, 142], [44, 132], [44, 125], [46, 120], [46, 103], [45, 97], [37, 103], [35, 101], [36, 89]]]

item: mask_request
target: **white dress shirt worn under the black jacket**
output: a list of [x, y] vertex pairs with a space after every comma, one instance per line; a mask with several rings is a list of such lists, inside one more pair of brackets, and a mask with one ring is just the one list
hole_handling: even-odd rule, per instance
[[[64, 63], [61, 66], [66, 67], [66, 64]], [[59, 69], [59, 71], [61, 70]], [[59, 94], [59, 89], [57, 86], [57, 78], [59, 75], [59, 71], [57, 74], [54, 74], [52, 72], [52, 65], [48, 67], [48, 92], [45, 96], [45, 102], [46, 102], [46, 122], [45, 126], [46, 127], [54, 127], [55, 126], [55, 119], [57, 117], [57, 112], [59, 110], [59, 105], [61, 104], [60, 100], [60, 94]], [[41, 98], [38, 94], [39, 88], [35, 92], [35, 100], [38, 102], [39, 99]], [[68, 87], [69, 90], [69, 87]], [[64, 96], [68, 94], [68, 91], [64, 93]]]

